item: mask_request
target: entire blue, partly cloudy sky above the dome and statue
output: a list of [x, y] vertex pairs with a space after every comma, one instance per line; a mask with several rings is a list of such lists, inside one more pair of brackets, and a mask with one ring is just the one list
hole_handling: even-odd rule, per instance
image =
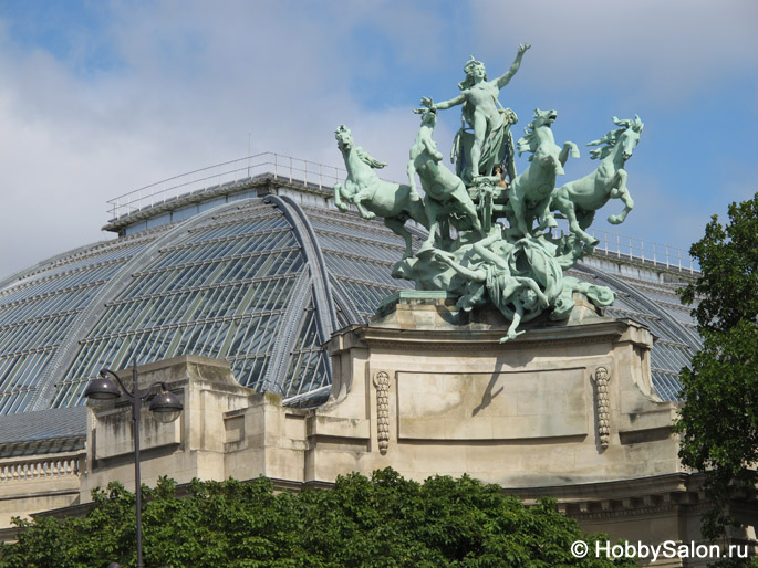
[[[110, 238], [105, 201], [252, 151], [341, 166], [333, 132], [403, 180], [422, 96], [458, 93], [469, 54], [490, 77], [529, 42], [500, 95], [555, 108], [585, 144], [635, 113], [627, 221], [595, 227], [681, 248], [758, 191], [754, 0], [0, 0], [0, 277]], [[457, 108], [435, 139], [449, 150]], [[526, 167], [526, 157], [517, 162]]]

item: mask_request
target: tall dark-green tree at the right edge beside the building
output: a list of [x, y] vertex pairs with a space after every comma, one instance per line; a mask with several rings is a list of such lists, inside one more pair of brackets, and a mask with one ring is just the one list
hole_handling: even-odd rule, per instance
[[682, 370], [676, 430], [682, 462], [704, 472], [713, 503], [704, 536], [726, 534], [730, 497], [755, 492], [758, 475], [758, 193], [714, 215], [693, 244], [700, 276], [679, 291], [695, 305], [703, 349]]

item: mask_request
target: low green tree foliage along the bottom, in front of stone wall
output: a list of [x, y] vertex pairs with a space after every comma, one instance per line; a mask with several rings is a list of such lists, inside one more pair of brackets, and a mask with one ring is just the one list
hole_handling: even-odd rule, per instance
[[[573, 541], [592, 548], [601, 537], [584, 535], [550, 501], [527, 508], [467, 476], [418, 484], [387, 469], [371, 480], [340, 477], [333, 490], [279, 494], [262, 477], [194, 481], [183, 497], [163, 478], [145, 491], [148, 568], [635, 566], [573, 558]], [[18, 520], [23, 530], [0, 547], [0, 567], [134, 566], [134, 495], [114, 483], [94, 497], [84, 517]]]

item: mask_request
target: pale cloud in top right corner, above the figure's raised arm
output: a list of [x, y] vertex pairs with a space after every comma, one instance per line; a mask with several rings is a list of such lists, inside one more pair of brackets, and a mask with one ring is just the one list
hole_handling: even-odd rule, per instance
[[[470, 3], [482, 27], [481, 46], [529, 41], [529, 81], [570, 88], [644, 88], [665, 98], [686, 96], [758, 63], [752, 0], [536, 1]], [[508, 60], [510, 55], [506, 56]], [[534, 70], [550, 69], [534, 76]]]

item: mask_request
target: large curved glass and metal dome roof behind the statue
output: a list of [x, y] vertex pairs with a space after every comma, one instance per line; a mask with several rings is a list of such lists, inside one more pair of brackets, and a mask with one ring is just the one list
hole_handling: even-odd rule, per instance
[[[105, 229], [120, 238], [0, 281], [0, 418], [81, 407], [102, 367], [185, 354], [226, 359], [241, 385], [284, 403], [318, 406], [331, 334], [413, 287], [390, 275], [404, 246], [381, 221], [274, 175], [178, 196]], [[418, 246], [424, 231], [411, 230]], [[654, 385], [675, 399], [699, 347], [675, 295], [689, 272], [608, 251], [572, 272], [616, 291], [609, 315], [651, 328]]]

